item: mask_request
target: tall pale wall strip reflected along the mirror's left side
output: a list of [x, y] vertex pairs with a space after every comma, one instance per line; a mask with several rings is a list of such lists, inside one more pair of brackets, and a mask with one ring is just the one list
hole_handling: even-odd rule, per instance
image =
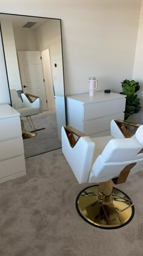
[[4, 41], [5, 60], [7, 63], [8, 82], [10, 89], [21, 90], [15, 38], [11, 21], [1, 20], [2, 38]]

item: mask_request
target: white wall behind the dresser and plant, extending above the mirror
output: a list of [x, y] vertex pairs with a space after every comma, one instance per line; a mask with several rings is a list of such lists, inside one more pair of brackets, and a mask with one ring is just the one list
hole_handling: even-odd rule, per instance
[[62, 19], [65, 93], [88, 91], [95, 75], [99, 90], [121, 91], [131, 79], [141, 0], [5, 0], [1, 12]]

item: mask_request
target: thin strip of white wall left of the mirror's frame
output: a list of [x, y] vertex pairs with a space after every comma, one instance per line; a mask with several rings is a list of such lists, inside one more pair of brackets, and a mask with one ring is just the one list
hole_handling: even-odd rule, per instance
[[5, 71], [4, 52], [2, 48], [1, 34], [0, 34], [0, 103], [10, 103], [10, 96], [8, 91], [7, 74]]

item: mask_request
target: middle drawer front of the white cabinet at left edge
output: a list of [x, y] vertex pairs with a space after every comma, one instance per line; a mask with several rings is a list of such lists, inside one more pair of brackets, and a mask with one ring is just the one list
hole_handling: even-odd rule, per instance
[[22, 137], [0, 141], [0, 161], [24, 154]]

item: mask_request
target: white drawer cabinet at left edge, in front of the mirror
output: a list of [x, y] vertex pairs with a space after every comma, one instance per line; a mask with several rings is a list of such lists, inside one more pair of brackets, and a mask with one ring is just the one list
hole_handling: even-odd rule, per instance
[[0, 105], [0, 183], [26, 174], [19, 113]]

